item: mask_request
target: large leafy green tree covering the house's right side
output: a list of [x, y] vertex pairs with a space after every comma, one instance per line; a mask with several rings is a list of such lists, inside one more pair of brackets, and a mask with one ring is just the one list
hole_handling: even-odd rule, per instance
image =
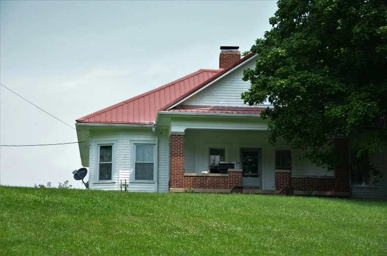
[[352, 154], [368, 162], [361, 159], [387, 143], [387, 1], [279, 0], [278, 7], [271, 31], [251, 47], [260, 58], [245, 70], [252, 86], [242, 98], [254, 105], [268, 96], [274, 108], [261, 115], [270, 119], [268, 141], [307, 150], [299, 158], [332, 170], [340, 164], [333, 139], [349, 134], [363, 135]]

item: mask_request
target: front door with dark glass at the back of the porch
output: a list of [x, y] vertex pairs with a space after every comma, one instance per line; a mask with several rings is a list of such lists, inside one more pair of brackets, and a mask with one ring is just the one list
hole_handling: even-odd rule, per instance
[[242, 149], [243, 185], [261, 189], [261, 150]]

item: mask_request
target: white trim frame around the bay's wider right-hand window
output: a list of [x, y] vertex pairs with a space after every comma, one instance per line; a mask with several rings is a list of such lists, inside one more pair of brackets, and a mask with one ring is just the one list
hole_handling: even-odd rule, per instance
[[[136, 172], [136, 145], [153, 145], [153, 161], [154, 161], [154, 167], [153, 167], [153, 180], [135, 180], [135, 172]], [[130, 149], [131, 149], [131, 158], [130, 158], [130, 182], [133, 183], [156, 183], [157, 180], [157, 143], [154, 140], [131, 140], [130, 142]]]

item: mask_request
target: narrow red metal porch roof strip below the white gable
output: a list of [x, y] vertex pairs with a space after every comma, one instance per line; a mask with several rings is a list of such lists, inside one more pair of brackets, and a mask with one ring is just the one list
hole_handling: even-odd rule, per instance
[[165, 112], [261, 114], [265, 107], [179, 106]]

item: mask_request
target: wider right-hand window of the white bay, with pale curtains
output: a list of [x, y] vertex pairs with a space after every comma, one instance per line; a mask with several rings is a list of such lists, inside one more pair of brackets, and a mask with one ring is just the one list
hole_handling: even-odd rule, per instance
[[154, 180], [154, 145], [135, 144], [135, 180]]

